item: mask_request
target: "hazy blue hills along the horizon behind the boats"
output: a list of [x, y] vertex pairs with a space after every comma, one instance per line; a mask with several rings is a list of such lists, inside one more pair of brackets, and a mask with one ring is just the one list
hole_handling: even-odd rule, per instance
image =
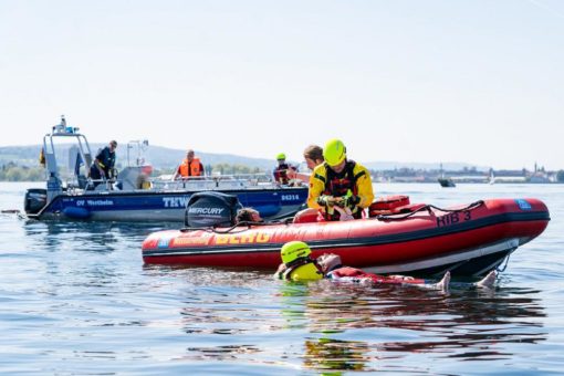
[[[91, 144], [92, 153], [96, 154], [96, 152], [104, 146], [105, 144]], [[69, 145], [61, 145], [60, 148], [58, 148], [58, 153], [60, 153], [59, 155], [62, 156], [60, 157], [61, 160], [66, 160], [65, 156], [69, 153]], [[6, 165], [12, 161], [22, 166], [36, 166], [39, 164], [38, 160], [40, 150], [40, 145], [2, 146], [0, 147], [0, 165]], [[173, 149], [163, 146], [148, 146], [144, 155], [145, 159], [152, 163], [155, 168], [170, 168], [173, 170], [185, 158], [186, 150]], [[137, 148], [135, 146], [129, 148], [129, 160], [132, 164], [135, 161], [137, 156]], [[205, 165], [242, 165], [248, 167], [258, 167], [262, 170], [271, 170], [276, 164], [276, 161], [273, 159], [243, 157], [232, 154], [197, 153], [197, 156], [200, 157]], [[122, 166], [127, 165], [127, 147], [124, 144], [121, 144], [117, 148], [117, 163]], [[400, 168], [438, 170], [440, 164], [410, 161], [368, 161], [363, 163], [363, 165], [373, 170], [393, 170]], [[489, 170], [489, 167], [476, 166], [466, 163], [442, 163], [442, 167], [445, 170], [451, 171], [462, 170], [464, 167], [469, 169], [476, 167], [476, 169], [479, 171]]]

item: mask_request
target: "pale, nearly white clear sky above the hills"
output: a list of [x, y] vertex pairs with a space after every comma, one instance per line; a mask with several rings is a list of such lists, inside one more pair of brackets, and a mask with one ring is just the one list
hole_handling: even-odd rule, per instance
[[564, 168], [564, 1], [0, 0], [0, 145]]

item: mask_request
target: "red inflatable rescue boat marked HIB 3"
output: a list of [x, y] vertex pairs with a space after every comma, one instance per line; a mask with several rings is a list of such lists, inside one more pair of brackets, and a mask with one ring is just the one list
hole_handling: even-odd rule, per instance
[[[143, 242], [147, 264], [272, 269], [288, 241], [310, 244], [313, 257], [341, 255], [346, 265], [387, 274], [483, 275], [550, 221], [532, 198], [491, 199], [440, 209], [409, 205], [405, 196], [373, 203], [370, 218], [336, 222], [279, 222], [159, 231]], [[295, 219], [294, 219], [295, 221]], [[299, 221], [304, 221], [300, 218]]]

